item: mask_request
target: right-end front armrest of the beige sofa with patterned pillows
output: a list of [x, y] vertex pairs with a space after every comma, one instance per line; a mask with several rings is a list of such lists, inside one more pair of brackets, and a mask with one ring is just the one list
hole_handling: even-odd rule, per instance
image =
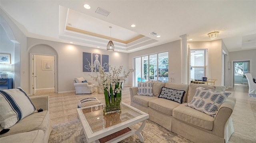
[[214, 118], [214, 124], [212, 132], [215, 135], [224, 137], [224, 131], [228, 123], [229, 118], [235, 108], [236, 98], [228, 97], [224, 103], [221, 104], [216, 116]]

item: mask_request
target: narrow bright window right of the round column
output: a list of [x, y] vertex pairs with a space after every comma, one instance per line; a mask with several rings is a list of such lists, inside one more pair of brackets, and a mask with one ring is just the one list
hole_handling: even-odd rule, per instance
[[206, 56], [207, 49], [191, 50], [191, 78], [202, 80], [202, 77], [206, 77]]

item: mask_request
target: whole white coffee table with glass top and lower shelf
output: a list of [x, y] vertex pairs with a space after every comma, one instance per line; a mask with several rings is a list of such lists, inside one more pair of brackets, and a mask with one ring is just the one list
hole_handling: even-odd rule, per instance
[[[145, 127], [148, 114], [125, 103], [118, 113], [105, 115], [103, 108], [104, 104], [77, 108], [83, 127], [80, 135], [84, 133], [88, 143], [117, 143], [134, 134], [144, 142], [140, 132]], [[138, 129], [131, 127], [139, 122], [142, 124]]]

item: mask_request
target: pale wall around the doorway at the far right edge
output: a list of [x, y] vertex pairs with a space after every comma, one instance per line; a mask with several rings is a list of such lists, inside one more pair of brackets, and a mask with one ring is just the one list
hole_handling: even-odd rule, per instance
[[250, 61], [250, 73], [252, 74], [252, 77], [256, 78], [256, 49], [229, 52], [228, 61], [231, 61], [231, 65], [232, 65], [231, 70], [228, 70], [228, 74], [230, 75], [228, 82], [230, 83], [231, 87], [232, 87], [232, 72], [234, 72], [232, 61]]

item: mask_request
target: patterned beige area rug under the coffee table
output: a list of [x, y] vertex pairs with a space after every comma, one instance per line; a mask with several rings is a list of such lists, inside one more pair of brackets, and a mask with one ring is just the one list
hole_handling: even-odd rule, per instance
[[[132, 127], [138, 129], [140, 125], [137, 123]], [[79, 120], [54, 125], [48, 143], [88, 143], [85, 135], [80, 135], [81, 129]], [[146, 121], [142, 135], [144, 143], [193, 143], [150, 120]], [[140, 143], [140, 139], [137, 135], [132, 135], [119, 143]]]

